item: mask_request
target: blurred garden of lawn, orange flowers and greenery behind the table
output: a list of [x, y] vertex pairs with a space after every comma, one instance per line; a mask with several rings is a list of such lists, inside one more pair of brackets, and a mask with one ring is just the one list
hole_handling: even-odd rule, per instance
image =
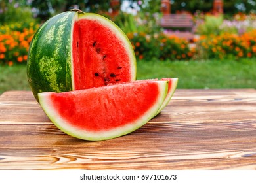
[[[168, 1], [171, 14], [190, 14], [191, 30], [164, 29], [162, 1], [0, 1], [0, 94], [30, 90], [26, 61], [38, 27], [71, 8], [96, 12], [116, 22], [137, 56], [137, 79], [178, 77], [177, 88], [256, 88], [256, 1]], [[189, 31], [192, 39], [172, 33]]]

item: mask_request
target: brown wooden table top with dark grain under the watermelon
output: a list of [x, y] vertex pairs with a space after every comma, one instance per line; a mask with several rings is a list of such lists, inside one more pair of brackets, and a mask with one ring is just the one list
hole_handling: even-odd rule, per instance
[[256, 169], [256, 90], [176, 90], [148, 124], [107, 141], [70, 137], [32, 92], [5, 92], [0, 169]]

